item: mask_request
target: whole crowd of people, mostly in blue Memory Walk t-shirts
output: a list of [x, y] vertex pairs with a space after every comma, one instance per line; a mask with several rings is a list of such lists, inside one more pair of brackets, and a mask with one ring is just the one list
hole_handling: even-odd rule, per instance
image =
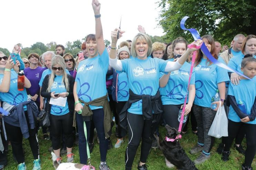
[[[247, 79], [212, 63], [201, 49], [188, 48], [188, 42], [182, 37], [170, 43], [152, 43], [141, 26], [132, 41], [120, 42], [119, 47], [117, 41], [125, 31], [116, 28], [111, 32], [111, 45], [106, 48], [100, 3], [93, 0], [92, 7], [95, 34], [87, 35], [75, 58], [72, 54], [65, 54], [63, 45], [57, 45], [55, 52], [46, 51], [41, 56], [31, 53], [23, 59], [16, 45], [13, 48], [15, 61], [0, 52], [1, 106], [9, 112], [6, 116], [0, 114], [0, 170], [7, 164], [5, 147], [8, 147], [8, 140], [18, 170], [26, 169], [23, 137], [28, 138], [33, 153], [33, 170], [41, 169], [37, 116], [43, 109], [50, 113], [51, 124], [50, 127], [42, 127], [43, 137], [51, 140], [50, 151], [54, 152], [58, 163], [62, 162], [61, 156], [66, 156], [68, 163], [73, 162], [72, 148], [76, 136], [80, 163], [87, 164], [87, 147], [91, 153], [96, 129], [99, 169], [110, 170], [106, 158], [112, 145], [110, 135], [114, 114], [115, 148], [123, 145], [123, 137], [128, 135], [124, 169], [132, 169], [141, 142], [137, 169], [147, 170], [150, 149], [157, 148], [154, 132], [160, 135], [160, 124], [178, 129], [179, 112], [186, 95], [184, 115], [187, 119], [183, 122], [182, 134], [186, 134], [190, 120], [191, 130], [198, 140], [189, 152], [201, 153], [194, 163], [210, 159], [215, 138], [208, 132], [219, 105], [224, 105], [228, 116], [228, 137], [222, 137], [217, 152], [222, 154], [223, 161], [228, 161], [235, 139], [236, 150], [245, 155], [242, 169], [252, 170], [256, 153], [256, 36], [238, 34], [230, 48], [224, 45], [222, 49], [212, 35], [204, 35], [202, 40], [191, 42], [195, 46], [205, 43], [216, 60], [249, 77]], [[197, 52], [190, 77], [194, 51]], [[25, 90], [22, 91], [17, 88], [20, 70], [25, 74]], [[216, 91], [220, 101], [211, 100]], [[239, 107], [241, 102], [244, 110]], [[213, 104], [217, 106], [212, 108]], [[246, 149], [241, 145], [244, 137]], [[165, 163], [169, 168], [174, 166], [166, 158]]]

